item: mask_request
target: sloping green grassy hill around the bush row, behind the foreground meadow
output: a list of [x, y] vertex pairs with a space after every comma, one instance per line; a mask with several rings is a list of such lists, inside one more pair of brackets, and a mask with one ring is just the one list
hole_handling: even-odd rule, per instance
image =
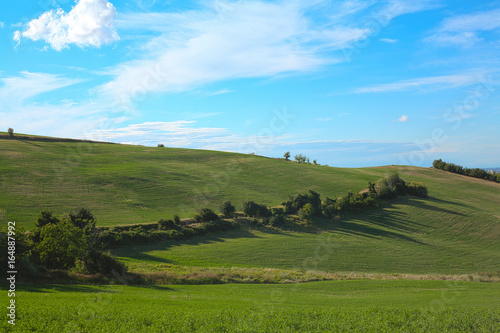
[[[136, 271], [168, 265], [384, 273], [500, 271], [500, 184], [430, 168], [332, 168], [253, 155], [104, 143], [0, 140], [2, 219], [87, 206], [98, 225], [191, 217], [225, 200], [277, 205], [313, 189], [338, 197], [399, 172], [429, 197], [400, 197], [302, 231], [241, 229], [114, 253]], [[163, 265], [163, 266], [162, 266]]]

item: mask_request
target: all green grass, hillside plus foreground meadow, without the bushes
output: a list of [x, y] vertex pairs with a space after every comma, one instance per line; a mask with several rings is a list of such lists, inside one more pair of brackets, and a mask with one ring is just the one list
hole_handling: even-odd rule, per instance
[[[355, 280], [19, 285], [15, 331], [500, 332], [499, 283], [412, 280], [461, 275], [481, 281], [500, 274], [500, 184], [444, 171], [345, 169], [213, 151], [0, 140], [0, 222], [15, 220], [30, 229], [41, 210], [60, 215], [87, 206], [98, 225], [151, 223], [176, 213], [192, 217], [225, 200], [237, 208], [245, 200], [278, 205], [308, 189], [322, 198], [338, 197], [393, 172], [424, 182], [429, 197], [399, 197], [307, 227], [243, 225], [112, 250], [130, 271], [152, 280], [163, 273], [201, 276], [193, 280], [198, 283], [204, 276], [210, 283], [217, 274], [253, 283]], [[398, 280], [390, 279], [396, 275]], [[6, 293], [4, 298], [7, 302]], [[0, 323], [0, 329], [10, 328], [6, 320]]]

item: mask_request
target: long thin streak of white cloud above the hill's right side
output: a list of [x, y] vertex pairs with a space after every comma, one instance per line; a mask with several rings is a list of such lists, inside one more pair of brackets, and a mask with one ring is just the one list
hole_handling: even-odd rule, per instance
[[436, 91], [441, 89], [452, 89], [469, 86], [481, 82], [482, 76], [477, 74], [432, 76], [412, 80], [404, 80], [396, 83], [385, 83], [369, 87], [357, 88], [352, 91], [355, 94], [383, 93], [393, 91]]

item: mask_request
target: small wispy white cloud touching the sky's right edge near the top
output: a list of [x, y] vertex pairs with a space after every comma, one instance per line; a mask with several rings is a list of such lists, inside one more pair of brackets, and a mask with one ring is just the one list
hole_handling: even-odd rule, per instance
[[473, 14], [457, 15], [443, 20], [426, 42], [438, 46], [461, 46], [470, 48], [482, 39], [482, 31], [500, 28], [500, 8]]

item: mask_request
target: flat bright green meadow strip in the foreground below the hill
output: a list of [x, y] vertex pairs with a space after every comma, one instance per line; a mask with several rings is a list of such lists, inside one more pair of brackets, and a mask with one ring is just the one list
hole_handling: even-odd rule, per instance
[[[18, 332], [499, 332], [500, 284], [24, 286]], [[6, 321], [0, 327], [9, 328]]]

